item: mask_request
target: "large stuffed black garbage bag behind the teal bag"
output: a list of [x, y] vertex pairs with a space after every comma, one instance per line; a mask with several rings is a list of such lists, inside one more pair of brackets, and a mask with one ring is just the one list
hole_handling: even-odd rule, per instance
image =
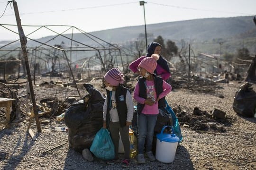
[[78, 152], [90, 148], [94, 136], [103, 126], [105, 98], [93, 85], [83, 84], [89, 93], [88, 100], [72, 104], [65, 112], [69, 146]]

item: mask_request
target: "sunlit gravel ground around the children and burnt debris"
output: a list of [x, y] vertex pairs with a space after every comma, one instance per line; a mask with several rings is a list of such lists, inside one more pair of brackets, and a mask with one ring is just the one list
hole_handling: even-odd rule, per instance
[[[100, 86], [101, 80], [92, 80], [95, 87]], [[213, 108], [226, 112], [232, 123], [226, 126], [223, 133], [214, 130], [195, 131], [190, 127], [183, 127], [183, 142], [178, 145], [174, 162], [159, 161], [138, 165], [132, 159], [130, 170], [255, 170], [256, 169], [256, 118], [243, 118], [232, 109], [235, 92], [241, 84], [231, 82], [218, 84], [214, 93], [201, 93], [187, 88], [174, 89], [167, 97], [172, 107], [180, 105], [187, 113], [192, 113], [194, 107], [210, 111]], [[82, 87], [80, 87], [82, 89]], [[200, 87], [199, 87], [200, 88]], [[104, 91], [104, 89], [99, 89]], [[58, 85], [34, 86], [36, 99], [52, 96], [64, 99], [69, 95], [77, 95], [75, 88]], [[86, 94], [85, 89], [80, 90]], [[18, 89], [18, 94], [26, 93], [24, 88]], [[224, 98], [220, 98], [222, 94]], [[40, 118], [40, 120], [46, 118]], [[28, 121], [28, 119], [27, 119]], [[35, 124], [35, 120], [33, 119]], [[37, 127], [31, 129], [37, 136], [33, 141], [26, 133], [27, 124], [9, 129], [0, 126], [0, 154], [1, 170], [119, 170], [119, 164], [107, 165], [105, 161], [94, 159], [89, 162], [82, 154], [68, 146], [66, 132], [54, 131], [54, 127], [65, 126], [64, 121], [51, 119], [47, 125], [41, 125], [42, 133], [37, 133]], [[66, 143], [66, 144], [64, 144]], [[64, 144], [52, 151], [45, 151]], [[122, 157], [122, 154], [120, 154]], [[3, 157], [3, 158], [1, 158]]]

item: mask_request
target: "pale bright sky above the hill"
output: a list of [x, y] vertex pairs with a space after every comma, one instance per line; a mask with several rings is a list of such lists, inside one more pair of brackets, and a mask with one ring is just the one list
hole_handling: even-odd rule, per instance
[[[0, 0], [0, 24], [17, 25], [13, 4]], [[22, 25], [75, 26], [85, 32], [141, 26], [144, 9], [139, 0], [16, 0]], [[146, 24], [197, 18], [256, 16], [256, 0], [145, 0]], [[8, 5], [7, 5], [8, 4]], [[13, 26], [14, 31], [18, 29]], [[24, 33], [30, 30], [24, 28]], [[18, 32], [18, 31], [17, 31]], [[40, 31], [31, 38], [53, 35]], [[0, 41], [18, 35], [0, 26]]]

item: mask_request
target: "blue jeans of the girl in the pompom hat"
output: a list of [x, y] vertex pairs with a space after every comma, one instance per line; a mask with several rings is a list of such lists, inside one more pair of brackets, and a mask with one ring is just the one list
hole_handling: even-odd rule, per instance
[[137, 115], [138, 122], [138, 153], [144, 153], [144, 144], [146, 140], [146, 152], [152, 151], [154, 128], [157, 114], [147, 115], [140, 113]]

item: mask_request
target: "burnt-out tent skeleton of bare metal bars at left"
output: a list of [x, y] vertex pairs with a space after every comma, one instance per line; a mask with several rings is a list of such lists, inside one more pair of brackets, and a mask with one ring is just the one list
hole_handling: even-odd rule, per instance
[[[18, 34], [13, 31], [17, 28], [16, 25], [0, 24], [0, 26], [8, 29], [10, 34]], [[113, 67], [126, 72], [129, 61], [136, 56], [136, 53], [127, 51], [118, 44], [106, 42], [75, 26], [23, 26], [23, 29], [27, 30], [27, 55], [34, 78], [35, 76], [69, 76], [73, 79], [100, 77]], [[43, 29], [54, 35], [37, 40], [32, 38]], [[1, 71], [0, 75], [3, 81], [9, 80], [9, 74], [12, 78], [26, 76], [18, 40], [17, 36], [17, 40], [0, 46], [0, 59], [4, 59], [0, 61], [0, 69], [5, 70]], [[126, 63], [123, 54], [127, 58]], [[10, 55], [15, 56], [15, 65], [10, 63], [14, 63], [9, 61]]]

